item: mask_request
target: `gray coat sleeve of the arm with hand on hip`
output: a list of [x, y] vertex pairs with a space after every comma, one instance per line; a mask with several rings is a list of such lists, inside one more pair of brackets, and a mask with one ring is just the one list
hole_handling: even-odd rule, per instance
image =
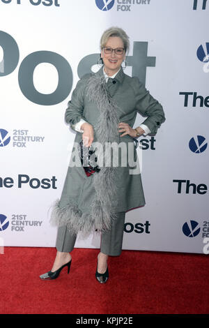
[[132, 77], [134, 80], [134, 90], [136, 95], [136, 109], [139, 114], [147, 119], [142, 122], [150, 129], [150, 133], [157, 133], [157, 129], [165, 121], [162, 105], [150, 95], [144, 84], [139, 82], [138, 77]]

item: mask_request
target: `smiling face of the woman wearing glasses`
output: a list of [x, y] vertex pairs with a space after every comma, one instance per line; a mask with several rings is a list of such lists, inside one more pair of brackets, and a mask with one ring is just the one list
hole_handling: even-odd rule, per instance
[[[118, 49], [124, 48], [123, 40], [118, 36], [111, 36], [105, 45], [105, 48]], [[104, 62], [104, 72], [111, 76], [114, 75], [121, 68], [121, 64], [125, 59], [125, 50], [123, 54], [116, 54], [112, 51], [110, 54], [105, 53], [104, 48], [102, 48], [101, 58]]]

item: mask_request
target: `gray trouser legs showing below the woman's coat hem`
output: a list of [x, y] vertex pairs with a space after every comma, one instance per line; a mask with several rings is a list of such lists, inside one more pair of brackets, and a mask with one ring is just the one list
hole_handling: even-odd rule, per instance
[[[119, 256], [122, 251], [125, 212], [118, 212], [111, 223], [111, 229], [101, 234], [100, 252]], [[56, 249], [70, 253], [75, 246], [77, 236], [70, 234], [66, 226], [59, 227], [56, 237]]]

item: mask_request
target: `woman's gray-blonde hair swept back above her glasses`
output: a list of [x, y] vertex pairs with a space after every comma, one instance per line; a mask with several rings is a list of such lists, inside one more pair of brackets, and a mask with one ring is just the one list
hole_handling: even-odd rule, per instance
[[102, 47], [106, 45], [107, 40], [111, 36], [118, 36], [118, 38], [121, 38], [121, 40], [123, 41], [125, 52], [128, 52], [130, 47], [129, 37], [127, 36], [125, 31], [123, 31], [123, 29], [121, 29], [120, 27], [110, 27], [109, 29], [104, 31], [100, 39], [100, 50], [102, 50]]

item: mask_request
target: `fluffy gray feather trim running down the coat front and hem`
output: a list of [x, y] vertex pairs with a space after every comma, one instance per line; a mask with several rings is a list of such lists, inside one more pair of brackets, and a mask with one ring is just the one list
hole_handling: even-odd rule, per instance
[[[100, 118], [94, 130], [95, 135], [105, 147], [107, 142], [118, 140], [118, 117], [117, 105], [109, 96], [104, 76], [91, 75], [86, 87], [86, 95], [93, 101], [100, 111]], [[100, 154], [98, 153], [98, 158]], [[111, 228], [111, 221], [115, 218], [113, 211], [116, 200], [116, 167], [100, 167], [100, 172], [93, 174], [93, 186], [95, 187], [95, 197], [90, 204], [90, 213], [82, 213], [77, 204], [68, 204], [59, 207], [59, 200], [53, 205], [51, 223], [53, 225], [67, 225], [71, 234], [82, 232], [88, 236], [93, 230], [104, 232]]]

